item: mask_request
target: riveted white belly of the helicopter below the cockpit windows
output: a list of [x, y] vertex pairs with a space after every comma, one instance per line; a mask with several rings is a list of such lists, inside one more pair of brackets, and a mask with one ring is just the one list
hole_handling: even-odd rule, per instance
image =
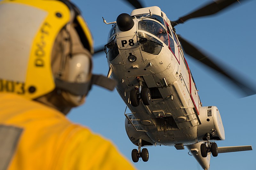
[[[127, 60], [131, 54], [137, 57], [134, 63]], [[120, 55], [111, 61], [111, 65], [114, 68], [112, 78], [118, 81], [116, 89], [133, 112], [128, 116], [133, 121], [127, 126], [142, 130], [147, 136], [142, 138], [148, 142], [146, 145], [197, 142], [200, 121], [183, 78], [186, 76], [180, 72], [181, 65], [167, 46], [158, 55], [140, 51], [139, 47], [120, 50]], [[138, 88], [138, 77], [142, 78], [142, 88], [147, 87], [152, 98], [149, 105], [140, 101], [139, 106], [134, 107], [129, 94]], [[130, 139], [136, 144], [137, 138]]]

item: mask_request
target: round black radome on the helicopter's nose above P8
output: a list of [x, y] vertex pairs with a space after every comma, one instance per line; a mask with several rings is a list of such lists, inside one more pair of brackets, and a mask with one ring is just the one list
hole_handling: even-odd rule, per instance
[[129, 31], [134, 26], [134, 21], [129, 14], [122, 13], [116, 18], [116, 24], [120, 31]]

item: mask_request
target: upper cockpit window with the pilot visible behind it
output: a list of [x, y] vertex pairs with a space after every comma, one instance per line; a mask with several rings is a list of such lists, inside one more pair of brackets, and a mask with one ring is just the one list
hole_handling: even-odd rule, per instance
[[162, 42], [168, 45], [166, 29], [154, 20], [143, 19], [138, 22], [138, 29], [155, 35]]

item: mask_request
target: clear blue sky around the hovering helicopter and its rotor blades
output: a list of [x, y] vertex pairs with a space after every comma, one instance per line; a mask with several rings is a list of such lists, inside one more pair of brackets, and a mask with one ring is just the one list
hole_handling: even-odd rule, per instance
[[[144, 6], [159, 6], [170, 20], [177, 20], [188, 12], [212, 0], [141, 0]], [[73, 0], [82, 11], [88, 23], [95, 47], [107, 43], [111, 25], [121, 13], [130, 14], [133, 7], [123, 0]], [[234, 73], [241, 75], [245, 83], [256, 88], [256, 1], [248, 0], [228, 8], [217, 15], [190, 19], [176, 26], [176, 33], [193, 42], [211, 54], [214, 59], [229, 66]], [[214, 169], [256, 169], [256, 95], [240, 98], [239, 90], [228, 81], [205, 66], [185, 56], [196, 82], [203, 106], [217, 106], [225, 128], [225, 141], [218, 146], [252, 145], [253, 151], [221, 153], [211, 158], [211, 170]], [[107, 59], [104, 53], [93, 58], [93, 73], [108, 73]], [[225, 69], [225, 68], [224, 68]], [[125, 103], [117, 91], [112, 92], [93, 86], [86, 103], [73, 109], [68, 118], [99, 133], [115, 143], [119, 151], [131, 162], [131, 151], [137, 148], [126, 135], [124, 128]], [[128, 110], [129, 112], [129, 110]], [[168, 146], [147, 147], [148, 162], [133, 163], [138, 169], [184, 170], [199, 167], [188, 150], [176, 150]], [[86, 151], [85, 151], [86, 152]]]

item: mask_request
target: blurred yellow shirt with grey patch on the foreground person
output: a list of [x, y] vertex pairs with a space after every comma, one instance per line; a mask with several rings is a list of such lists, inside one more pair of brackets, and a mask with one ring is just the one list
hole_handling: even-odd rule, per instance
[[108, 140], [17, 95], [0, 94], [0, 141], [0, 169], [134, 169]]

